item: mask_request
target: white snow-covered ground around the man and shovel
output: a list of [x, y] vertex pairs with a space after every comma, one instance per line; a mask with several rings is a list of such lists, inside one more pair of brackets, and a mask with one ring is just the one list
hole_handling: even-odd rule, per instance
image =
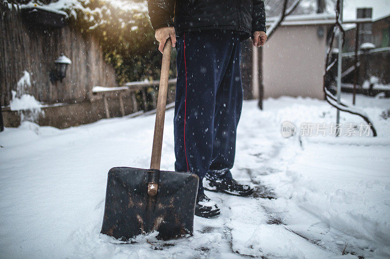
[[[359, 96], [357, 106], [372, 119], [377, 138], [283, 138], [283, 121], [329, 125], [335, 109], [307, 98], [268, 99], [264, 111], [244, 102], [232, 172], [257, 188], [254, 196], [207, 192], [221, 215], [195, 217], [193, 237], [165, 242], [156, 233], [132, 244], [99, 234], [107, 172], [148, 168], [153, 115], [64, 130], [31, 122], [6, 128], [0, 133], [0, 257], [389, 258], [390, 100]], [[364, 121], [341, 113], [341, 122]], [[169, 110], [163, 170], [174, 170], [173, 143]]]

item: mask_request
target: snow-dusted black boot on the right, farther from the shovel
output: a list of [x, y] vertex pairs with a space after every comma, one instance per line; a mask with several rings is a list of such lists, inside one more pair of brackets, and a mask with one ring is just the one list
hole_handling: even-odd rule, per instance
[[251, 188], [249, 185], [239, 184], [234, 179], [211, 180], [205, 177], [204, 189], [215, 192], [225, 192], [237, 196], [248, 196], [253, 193], [253, 188]]

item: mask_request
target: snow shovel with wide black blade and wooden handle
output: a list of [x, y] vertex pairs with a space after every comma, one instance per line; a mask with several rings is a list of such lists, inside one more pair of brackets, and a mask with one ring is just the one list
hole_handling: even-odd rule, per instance
[[161, 66], [150, 169], [114, 167], [108, 172], [101, 233], [129, 241], [158, 231], [157, 238], [192, 235], [199, 178], [194, 173], [160, 171], [172, 42], [167, 40]]

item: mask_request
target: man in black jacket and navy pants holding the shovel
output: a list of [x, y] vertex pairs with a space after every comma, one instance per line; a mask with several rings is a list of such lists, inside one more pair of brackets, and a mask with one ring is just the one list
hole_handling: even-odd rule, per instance
[[205, 189], [239, 196], [253, 192], [237, 183], [230, 169], [243, 98], [240, 41], [252, 36], [254, 46], [264, 45], [264, 2], [148, 0], [148, 9], [159, 51], [168, 38], [177, 50], [175, 170], [199, 176], [195, 215], [214, 217], [219, 208]]

